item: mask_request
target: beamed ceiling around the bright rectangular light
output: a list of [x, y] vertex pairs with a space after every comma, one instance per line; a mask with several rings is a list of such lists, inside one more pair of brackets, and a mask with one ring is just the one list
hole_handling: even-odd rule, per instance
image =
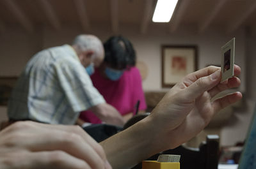
[[256, 0], [179, 0], [170, 23], [153, 23], [156, 0], [0, 0], [0, 33], [10, 26], [28, 32], [36, 26], [61, 29], [76, 25], [84, 31], [107, 25], [113, 33], [120, 27], [134, 26], [147, 33], [154, 26], [164, 26], [170, 33], [192, 26], [198, 33], [217, 27], [232, 33], [248, 27], [256, 33]]

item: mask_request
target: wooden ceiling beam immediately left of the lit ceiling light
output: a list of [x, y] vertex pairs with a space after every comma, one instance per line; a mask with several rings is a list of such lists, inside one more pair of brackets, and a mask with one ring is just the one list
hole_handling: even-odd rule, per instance
[[141, 34], [145, 34], [148, 29], [148, 24], [150, 23], [150, 18], [152, 18], [152, 6], [154, 1], [153, 0], [144, 0], [145, 1], [145, 8], [144, 14], [141, 21], [140, 32]]

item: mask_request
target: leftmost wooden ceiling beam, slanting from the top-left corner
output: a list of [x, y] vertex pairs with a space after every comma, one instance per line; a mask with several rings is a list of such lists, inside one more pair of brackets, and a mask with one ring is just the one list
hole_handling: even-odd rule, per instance
[[29, 33], [33, 32], [34, 26], [32, 22], [13, 0], [4, 0], [2, 3], [4, 3], [8, 10], [13, 13], [13, 16], [17, 19], [20, 25], [26, 29], [26, 31]]

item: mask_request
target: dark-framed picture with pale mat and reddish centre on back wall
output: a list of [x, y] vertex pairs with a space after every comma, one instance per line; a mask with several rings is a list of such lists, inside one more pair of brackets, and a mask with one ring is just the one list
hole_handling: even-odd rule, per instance
[[197, 70], [197, 47], [162, 46], [162, 87], [172, 87]]

